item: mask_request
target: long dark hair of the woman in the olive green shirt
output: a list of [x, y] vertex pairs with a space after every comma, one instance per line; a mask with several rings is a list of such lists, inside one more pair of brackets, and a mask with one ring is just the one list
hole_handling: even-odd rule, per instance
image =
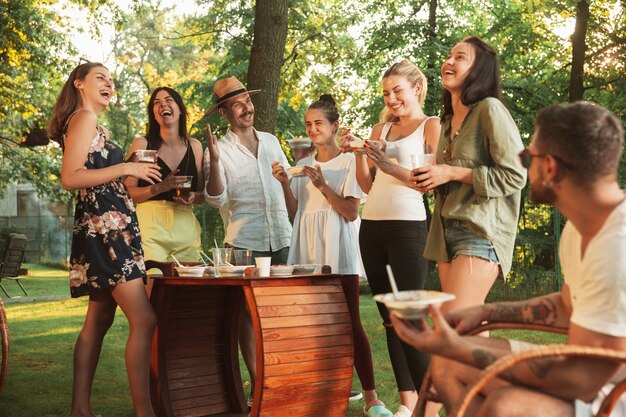
[[[485, 41], [476, 36], [463, 38], [461, 42], [474, 46], [474, 64], [463, 81], [461, 103], [469, 106], [478, 103], [487, 97], [502, 99], [502, 81], [500, 79], [500, 64], [496, 51]], [[460, 42], [459, 42], [460, 43]], [[452, 117], [452, 95], [443, 89], [443, 115], [441, 121]]]

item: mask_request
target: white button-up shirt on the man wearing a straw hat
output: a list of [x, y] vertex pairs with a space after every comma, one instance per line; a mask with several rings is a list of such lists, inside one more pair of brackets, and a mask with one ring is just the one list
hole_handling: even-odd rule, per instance
[[[207, 203], [220, 209], [226, 236], [224, 242], [255, 251], [277, 251], [291, 243], [291, 224], [280, 182], [272, 175], [272, 163], [289, 166], [278, 139], [254, 131], [259, 140], [257, 157], [230, 129], [217, 142], [224, 191], [209, 195]], [[204, 178], [209, 181], [211, 158], [204, 154]]]

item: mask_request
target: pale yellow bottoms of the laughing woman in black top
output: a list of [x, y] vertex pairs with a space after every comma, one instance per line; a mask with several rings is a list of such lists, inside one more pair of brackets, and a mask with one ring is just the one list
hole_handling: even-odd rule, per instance
[[192, 206], [172, 201], [146, 201], [137, 205], [137, 219], [143, 242], [144, 259], [173, 262], [200, 260], [200, 223]]

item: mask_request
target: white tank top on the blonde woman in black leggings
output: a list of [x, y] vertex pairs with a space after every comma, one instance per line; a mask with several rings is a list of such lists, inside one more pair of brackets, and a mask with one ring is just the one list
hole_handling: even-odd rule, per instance
[[[430, 117], [429, 117], [430, 119]], [[426, 119], [428, 120], [428, 119]], [[409, 136], [387, 142], [387, 155], [396, 164], [412, 169], [411, 155], [424, 153], [426, 120]], [[385, 123], [381, 137], [386, 138], [393, 123]], [[381, 170], [367, 196], [361, 218], [364, 220], [426, 220], [422, 193]]]

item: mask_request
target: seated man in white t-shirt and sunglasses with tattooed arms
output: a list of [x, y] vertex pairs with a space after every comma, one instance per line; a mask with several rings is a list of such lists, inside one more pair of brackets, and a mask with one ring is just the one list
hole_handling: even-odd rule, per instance
[[[565, 280], [560, 293], [445, 317], [431, 307], [432, 329], [393, 317], [403, 340], [437, 355], [433, 382], [448, 413], [456, 414], [480, 369], [523, 346], [459, 335], [484, 320], [568, 327], [570, 344], [626, 351], [626, 194], [617, 181], [623, 147], [623, 127], [614, 115], [576, 102], [542, 110], [532, 142], [520, 154], [531, 199], [554, 205], [568, 219], [559, 244]], [[467, 415], [591, 416], [620, 374], [619, 364], [599, 360], [531, 360], [489, 383]], [[612, 416], [626, 416], [624, 402]]]

